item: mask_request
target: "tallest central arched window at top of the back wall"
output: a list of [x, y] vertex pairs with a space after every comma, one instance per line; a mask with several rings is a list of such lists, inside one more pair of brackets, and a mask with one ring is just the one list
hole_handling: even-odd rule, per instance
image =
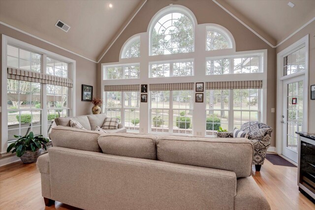
[[151, 29], [151, 55], [193, 52], [193, 29], [191, 18], [184, 12], [162, 14]]

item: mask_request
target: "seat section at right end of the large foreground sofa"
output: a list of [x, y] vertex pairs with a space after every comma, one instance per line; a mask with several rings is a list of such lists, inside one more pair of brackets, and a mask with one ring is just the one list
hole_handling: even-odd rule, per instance
[[270, 205], [255, 180], [251, 177], [237, 179], [235, 210], [270, 210]]

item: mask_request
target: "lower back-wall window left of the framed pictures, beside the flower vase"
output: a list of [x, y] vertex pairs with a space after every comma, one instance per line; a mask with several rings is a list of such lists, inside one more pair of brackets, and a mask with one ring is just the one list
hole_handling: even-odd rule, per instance
[[106, 91], [105, 112], [109, 118], [118, 118], [127, 130], [139, 131], [139, 91]]

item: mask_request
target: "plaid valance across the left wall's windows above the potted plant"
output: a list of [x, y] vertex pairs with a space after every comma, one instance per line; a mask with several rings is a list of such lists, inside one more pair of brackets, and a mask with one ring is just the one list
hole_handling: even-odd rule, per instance
[[68, 78], [57, 77], [39, 72], [32, 72], [23, 69], [7, 68], [7, 78], [13, 80], [23, 80], [28, 82], [43, 83], [49, 85], [58, 85], [73, 87], [73, 81]]

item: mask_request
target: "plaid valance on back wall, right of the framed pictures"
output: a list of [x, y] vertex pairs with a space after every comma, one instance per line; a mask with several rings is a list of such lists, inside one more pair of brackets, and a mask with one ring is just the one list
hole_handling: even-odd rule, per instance
[[261, 89], [262, 80], [206, 82], [206, 90]]

